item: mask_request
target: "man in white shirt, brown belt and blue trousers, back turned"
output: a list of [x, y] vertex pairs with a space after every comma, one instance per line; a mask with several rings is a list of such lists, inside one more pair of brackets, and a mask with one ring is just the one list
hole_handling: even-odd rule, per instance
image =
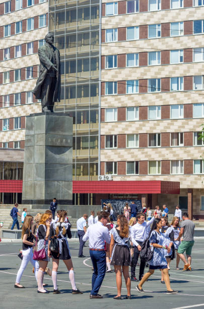
[[106, 273], [106, 252], [104, 249], [105, 241], [110, 243], [110, 235], [108, 228], [109, 214], [107, 212], [100, 212], [98, 214], [98, 222], [88, 227], [83, 241], [89, 239], [89, 250], [94, 272], [92, 275], [92, 290], [90, 298], [103, 298], [98, 294], [98, 291], [103, 282]]

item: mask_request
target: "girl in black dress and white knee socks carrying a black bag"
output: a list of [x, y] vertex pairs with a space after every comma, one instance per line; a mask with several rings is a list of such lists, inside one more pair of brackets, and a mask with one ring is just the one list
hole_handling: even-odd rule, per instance
[[[57, 287], [57, 270], [59, 266], [59, 260], [62, 260], [69, 271], [69, 277], [72, 284], [73, 294], [83, 294], [75, 284], [75, 275], [73, 269], [73, 263], [70, 253], [70, 248], [66, 237], [72, 238], [71, 225], [65, 223], [67, 213], [64, 210], [59, 211], [58, 222], [53, 222], [50, 227], [49, 233], [49, 244], [48, 244], [48, 255], [52, 258], [52, 282], [54, 286], [54, 294], [59, 294], [60, 291]], [[57, 237], [58, 241], [58, 252], [50, 250], [50, 242], [53, 237]]]

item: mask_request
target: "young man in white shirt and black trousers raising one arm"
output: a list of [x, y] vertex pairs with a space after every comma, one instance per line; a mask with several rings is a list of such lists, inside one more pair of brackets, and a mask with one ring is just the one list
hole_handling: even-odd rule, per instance
[[[153, 217], [150, 221], [145, 222], [145, 215], [142, 213], [139, 213], [137, 215], [137, 224], [133, 225], [131, 227], [131, 241], [134, 244], [134, 253], [132, 258], [132, 266], [131, 266], [131, 281], [138, 281], [138, 279], [135, 277], [135, 267], [138, 263], [138, 258], [141, 251], [141, 245], [144, 240], [147, 239], [147, 229], [151, 226], [151, 224], [154, 222], [155, 217]], [[144, 270], [145, 270], [145, 260], [141, 259], [140, 262], [140, 273], [139, 273], [139, 281], [141, 281]]]

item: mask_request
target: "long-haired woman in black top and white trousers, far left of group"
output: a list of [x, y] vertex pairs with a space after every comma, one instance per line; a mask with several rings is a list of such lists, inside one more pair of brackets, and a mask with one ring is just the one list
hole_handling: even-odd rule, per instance
[[21, 238], [23, 239], [23, 249], [22, 249], [22, 255], [23, 260], [21, 262], [21, 266], [19, 268], [19, 271], [17, 273], [16, 277], [16, 283], [15, 288], [24, 288], [23, 285], [20, 284], [21, 277], [23, 275], [24, 270], [26, 269], [28, 262], [31, 262], [33, 267], [35, 268], [35, 277], [37, 280], [37, 273], [38, 273], [38, 262], [33, 260], [33, 234], [31, 232], [31, 225], [33, 223], [33, 217], [30, 215], [27, 215], [25, 217], [23, 227], [22, 227], [22, 235]]

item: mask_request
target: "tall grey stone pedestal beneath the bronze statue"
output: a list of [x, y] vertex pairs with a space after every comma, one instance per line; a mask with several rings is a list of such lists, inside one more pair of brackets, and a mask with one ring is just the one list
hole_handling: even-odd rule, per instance
[[31, 114], [26, 120], [23, 204], [72, 204], [73, 119]]

